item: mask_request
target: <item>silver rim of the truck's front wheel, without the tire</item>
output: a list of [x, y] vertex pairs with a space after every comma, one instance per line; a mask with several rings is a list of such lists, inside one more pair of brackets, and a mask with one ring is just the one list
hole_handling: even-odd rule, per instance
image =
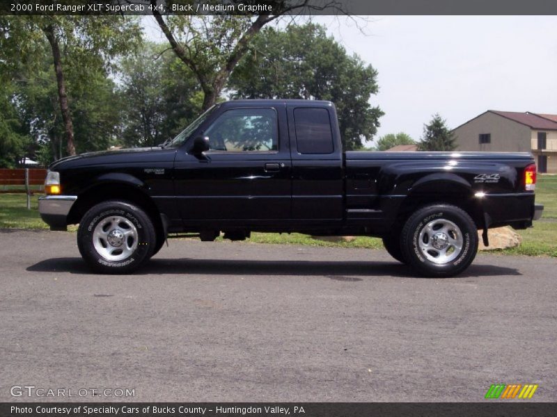
[[112, 215], [102, 219], [93, 230], [93, 247], [107, 261], [122, 261], [134, 253], [139, 236], [127, 218]]

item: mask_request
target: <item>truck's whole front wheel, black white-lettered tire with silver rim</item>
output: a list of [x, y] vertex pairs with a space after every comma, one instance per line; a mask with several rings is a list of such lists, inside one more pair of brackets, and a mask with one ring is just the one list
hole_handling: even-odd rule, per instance
[[147, 261], [157, 235], [149, 216], [130, 202], [93, 206], [79, 223], [77, 247], [95, 272], [127, 274]]

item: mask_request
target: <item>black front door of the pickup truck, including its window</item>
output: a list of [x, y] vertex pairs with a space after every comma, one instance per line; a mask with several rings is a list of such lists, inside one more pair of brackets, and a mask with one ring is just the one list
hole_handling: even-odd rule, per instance
[[[198, 136], [210, 150], [201, 156], [178, 151], [175, 188], [185, 224], [200, 220], [290, 218], [291, 180], [288, 129], [279, 126], [285, 108], [223, 108]], [[283, 145], [284, 147], [284, 145]]]

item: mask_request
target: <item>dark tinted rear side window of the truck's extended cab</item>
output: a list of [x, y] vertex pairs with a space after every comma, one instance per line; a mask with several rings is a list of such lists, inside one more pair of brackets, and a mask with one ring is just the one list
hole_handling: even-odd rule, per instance
[[326, 108], [295, 108], [294, 124], [300, 154], [333, 153], [331, 120]]

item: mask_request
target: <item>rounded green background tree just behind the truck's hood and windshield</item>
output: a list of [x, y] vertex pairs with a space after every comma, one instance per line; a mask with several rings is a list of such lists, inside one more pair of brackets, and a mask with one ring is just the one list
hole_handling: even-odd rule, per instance
[[175, 136], [201, 111], [196, 78], [164, 46], [147, 42], [120, 65], [123, 140], [129, 146], [154, 146]]

